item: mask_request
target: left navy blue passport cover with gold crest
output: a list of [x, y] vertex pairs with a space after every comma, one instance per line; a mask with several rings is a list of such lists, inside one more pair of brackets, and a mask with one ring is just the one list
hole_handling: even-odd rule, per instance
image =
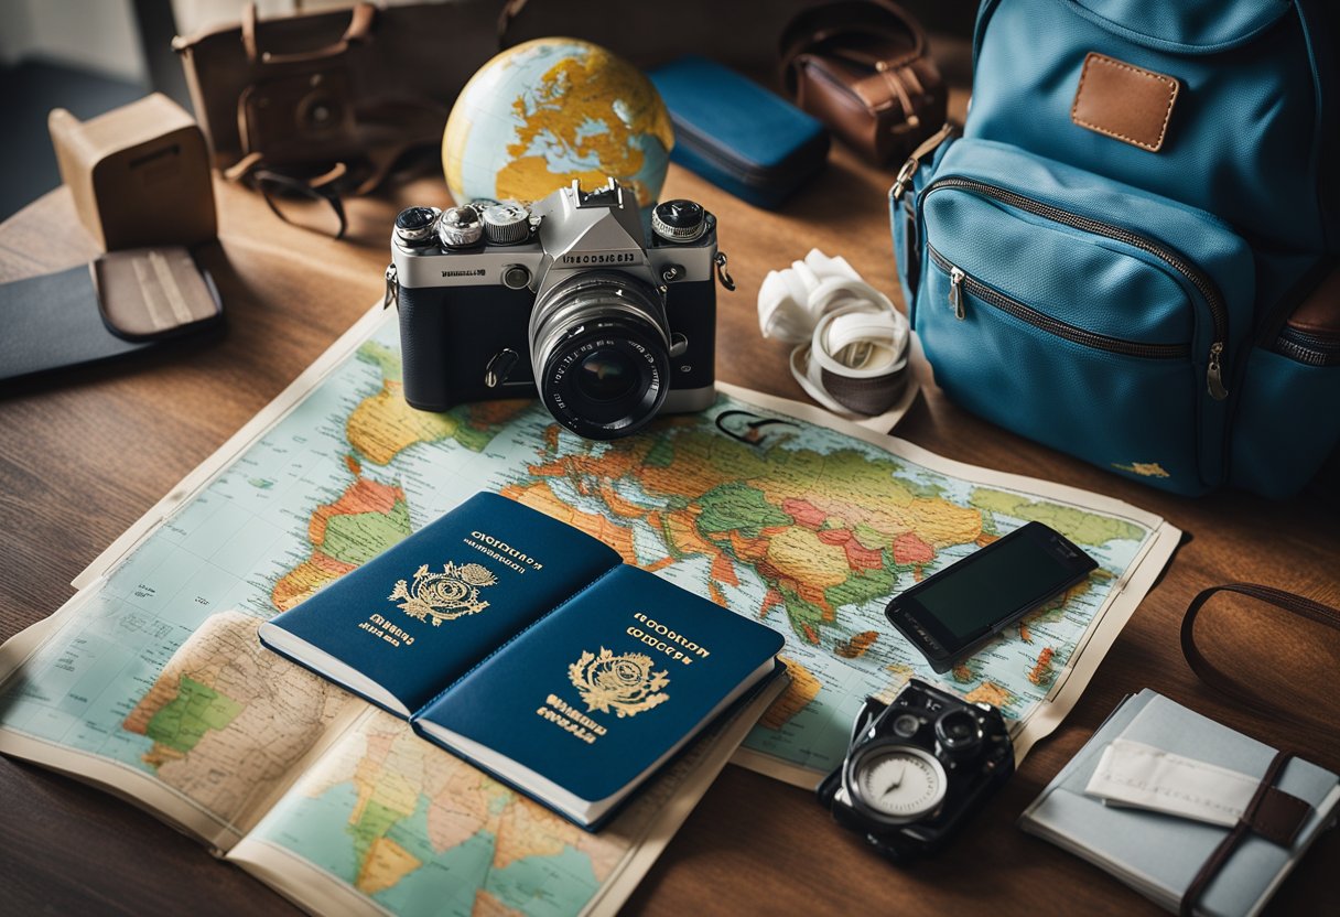
[[572, 526], [477, 493], [261, 625], [260, 641], [409, 717], [619, 563]]

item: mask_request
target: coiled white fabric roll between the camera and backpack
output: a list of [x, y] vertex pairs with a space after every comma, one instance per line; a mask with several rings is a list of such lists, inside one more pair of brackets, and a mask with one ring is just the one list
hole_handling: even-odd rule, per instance
[[791, 373], [811, 398], [842, 414], [887, 410], [907, 385], [907, 319], [846, 259], [813, 249], [758, 290], [764, 337], [797, 345]]

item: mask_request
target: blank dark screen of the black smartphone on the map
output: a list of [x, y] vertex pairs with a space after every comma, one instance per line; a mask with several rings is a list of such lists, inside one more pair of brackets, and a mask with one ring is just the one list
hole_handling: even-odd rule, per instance
[[[950, 574], [950, 571], [953, 571]], [[957, 641], [1000, 622], [1012, 611], [1055, 595], [1075, 571], [1030, 538], [981, 550], [926, 580], [917, 601]]]

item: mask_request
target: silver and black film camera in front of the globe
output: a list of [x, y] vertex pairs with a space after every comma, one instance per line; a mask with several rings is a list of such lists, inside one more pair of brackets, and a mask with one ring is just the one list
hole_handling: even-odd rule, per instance
[[395, 220], [405, 398], [421, 410], [539, 394], [592, 440], [716, 400], [717, 290], [733, 290], [717, 220], [686, 200], [643, 223], [610, 178], [533, 206], [485, 201]]

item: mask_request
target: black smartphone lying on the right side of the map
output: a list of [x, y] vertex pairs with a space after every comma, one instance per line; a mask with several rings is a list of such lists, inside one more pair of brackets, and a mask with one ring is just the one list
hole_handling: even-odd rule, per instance
[[935, 672], [949, 672], [1096, 567], [1060, 532], [1028, 523], [899, 593], [884, 615]]

